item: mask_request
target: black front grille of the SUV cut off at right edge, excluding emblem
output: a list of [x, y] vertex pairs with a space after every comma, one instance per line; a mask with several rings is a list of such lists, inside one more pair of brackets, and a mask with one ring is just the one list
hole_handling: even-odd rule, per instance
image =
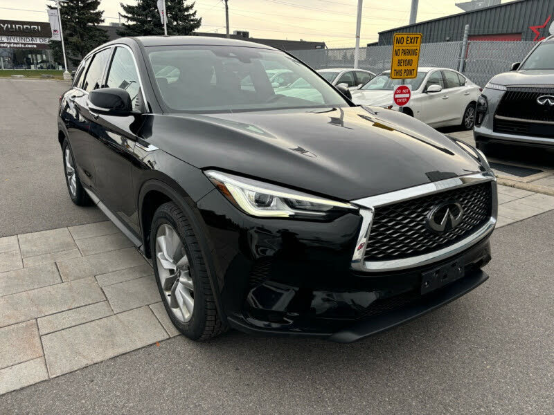
[[508, 86], [496, 115], [530, 121], [554, 121], [554, 107], [537, 102], [537, 98], [542, 95], [554, 96], [554, 88]]

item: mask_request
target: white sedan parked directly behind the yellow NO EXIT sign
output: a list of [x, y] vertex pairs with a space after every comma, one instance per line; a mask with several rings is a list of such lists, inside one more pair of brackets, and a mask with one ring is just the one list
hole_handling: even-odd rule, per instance
[[419, 68], [413, 80], [404, 80], [411, 88], [411, 99], [402, 109], [395, 106], [393, 93], [402, 80], [391, 80], [390, 71], [380, 73], [357, 91], [352, 101], [359, 105], [395, 109], [431, 127], [460, 125], [472, 129], [475, 107], [481, 88], [461, 73], [449, 68]]

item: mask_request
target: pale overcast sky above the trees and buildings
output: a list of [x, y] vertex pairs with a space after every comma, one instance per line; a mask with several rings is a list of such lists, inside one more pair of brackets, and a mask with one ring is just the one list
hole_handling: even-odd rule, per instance
[[[418, 21], [462, 12], [454, 3], [463, 0], [420, 0]], [[503, 0], [506, 3], [510, 0]], [[118, 21], [119, 3], [136, 0], [101, 0], [106, 24]], [[47, 21], [47, 0], [0, 0], [0, 19]], [[190, 3], [190, 1], [187, 1]], [[361, 44], [377, 40], [377, 33], [408, 24], [411, 0], [364, 0]], [[6, 10], [15, 8], [20, 10]], [[201, 31], [225, 32], [223, 0], [197, 0]], [[23, 10], [24, 9], [24, 10]], [[35, 11], [33, 11], [35, 10]], [[330, 47], [354, 46], [357, 0], [229, 0], [229, 24], [248, 30], [251, 37], [323, 41]]]

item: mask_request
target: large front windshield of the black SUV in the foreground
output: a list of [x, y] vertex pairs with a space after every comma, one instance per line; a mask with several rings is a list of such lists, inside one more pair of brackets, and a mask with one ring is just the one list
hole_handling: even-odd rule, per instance
[[172, 111], [348, 107], [310, 68], [278, 50], [150, 46], [147, 51], [161, 98]]

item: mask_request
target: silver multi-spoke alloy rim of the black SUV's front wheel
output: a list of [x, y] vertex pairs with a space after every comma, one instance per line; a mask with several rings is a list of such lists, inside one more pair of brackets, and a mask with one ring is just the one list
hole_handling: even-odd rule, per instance
[[188, 322], [195, 306], [193, 279], [184, 244], [171, 225], [158, 228], [155, 255], [164, 300], [177, 320]]

